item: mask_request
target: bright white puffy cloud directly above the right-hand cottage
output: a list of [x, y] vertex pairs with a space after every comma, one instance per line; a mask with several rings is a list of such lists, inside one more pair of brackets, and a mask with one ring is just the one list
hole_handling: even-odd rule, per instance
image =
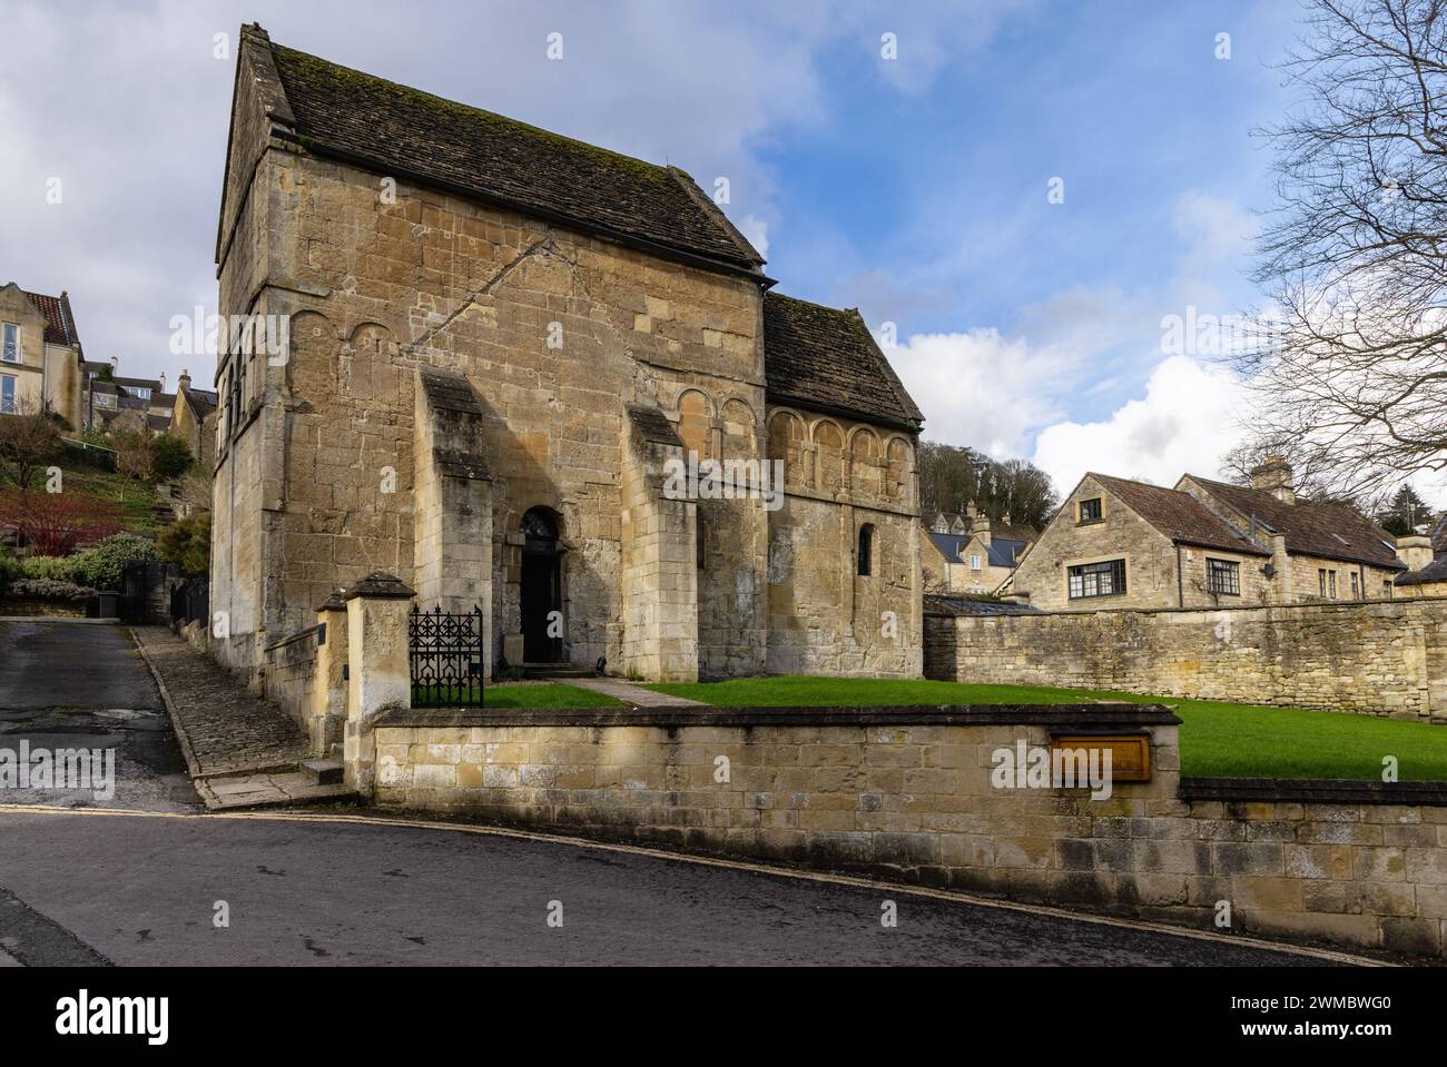
[[1142, 399], [1103, 422], [1059, 422], [1036, 438], [1032, 461], [1068, 492], [1085, 471], [1174, 484], [1189, 471], [1218, 476], [1242, 437], [1244, 386], [1229, 370], [1188, 356], [1162, 361]]

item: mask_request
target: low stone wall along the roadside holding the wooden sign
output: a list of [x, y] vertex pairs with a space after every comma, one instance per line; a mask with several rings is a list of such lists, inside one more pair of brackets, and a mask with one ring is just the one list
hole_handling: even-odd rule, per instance
[[[1178, 723], [1136, 704], [392, 707], [359, 726], [349, 778], [389, 807], [1443, 954], [1447, 789], [1182, 787]], [[1114, 782], [1101, 800], [993, 781], [1000, 750], [1048, 749], [1059, 732], [1145, 733], [1150, 781]]]

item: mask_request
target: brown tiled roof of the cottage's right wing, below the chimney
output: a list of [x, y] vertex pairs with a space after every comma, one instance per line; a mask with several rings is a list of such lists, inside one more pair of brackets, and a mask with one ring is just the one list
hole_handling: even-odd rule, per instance
[[1244, 520], [1255, 518], [1266, 535], [1285, 534], [1286, 551], [1292, 555], [1317, 555], [1402, 570], [1392, 535], [1350, 507], [1304, 500], [1286, 503], [1265, 489], [1210, 481], [1194, 474], [1187, 477]]

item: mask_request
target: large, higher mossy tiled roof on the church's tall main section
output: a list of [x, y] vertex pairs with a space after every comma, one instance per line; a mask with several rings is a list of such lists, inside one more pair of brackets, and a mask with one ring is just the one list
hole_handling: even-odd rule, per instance
[[764, 259], [676, 166], [586, 145], [269, 43], [301, 145], [585, 231], [757, 270]]

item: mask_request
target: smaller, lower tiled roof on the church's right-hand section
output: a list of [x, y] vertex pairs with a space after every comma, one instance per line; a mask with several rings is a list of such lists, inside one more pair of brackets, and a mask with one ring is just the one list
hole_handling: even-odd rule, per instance
[[770, 403], [910, 431], [925, 421], [854, 308], [765, 293], [764, 377]]

